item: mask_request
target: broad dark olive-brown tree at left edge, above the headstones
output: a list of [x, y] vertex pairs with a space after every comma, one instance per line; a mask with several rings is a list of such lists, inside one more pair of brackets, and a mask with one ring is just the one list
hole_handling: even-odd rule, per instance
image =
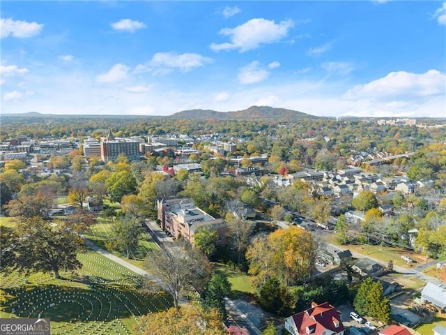
[[9, 250], [9, 257], [2, 259], [1, 269], [53, 272], [56, 278], [60, 278], [60, 270], [72, 271], [82, 267], [76, 258], [82, 242], [69, 225], [48, 223], [38, 217], [29, 218], [16, 225], [9, 239], [1, 241], [1, 248]]

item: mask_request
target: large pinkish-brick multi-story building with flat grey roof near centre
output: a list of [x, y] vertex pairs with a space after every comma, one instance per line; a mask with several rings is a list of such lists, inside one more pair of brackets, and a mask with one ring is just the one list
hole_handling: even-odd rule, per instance
[[214, 218], [195, 206], [187, 198], [157, 200], [157, 217], [163, 230], [167, 230], [176, 239], [183, 237], [194, 244], [194, 234], [199, 228], [206, 227], [218, 232], [220, 239], [217, 244], [226, 240], [228, 225], [222, 218]]

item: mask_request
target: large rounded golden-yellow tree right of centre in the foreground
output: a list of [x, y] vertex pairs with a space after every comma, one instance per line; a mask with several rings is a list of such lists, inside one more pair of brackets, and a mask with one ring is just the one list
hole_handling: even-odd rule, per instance
[[247, 248], [249, 274], [261, 285], [276, 277], [286, 286], [300, 283], [311, 276], [318, 244], [312, 234], [297, 227], [276, 230], [268, 237], [257, 237]]

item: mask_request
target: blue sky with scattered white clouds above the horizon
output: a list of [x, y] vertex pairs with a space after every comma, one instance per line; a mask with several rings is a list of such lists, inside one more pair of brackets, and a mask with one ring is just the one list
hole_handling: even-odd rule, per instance
[[1, 112], [446, 117], [446, 2], [2, 1]]

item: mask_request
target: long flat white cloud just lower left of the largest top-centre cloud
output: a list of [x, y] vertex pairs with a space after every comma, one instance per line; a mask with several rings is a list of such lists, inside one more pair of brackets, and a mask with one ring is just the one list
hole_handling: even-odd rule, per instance
[[178, 69], [185, 73], [193, 68], [210, 64], [213, 59], [201, 56], [201, 54], [176, 54], [175, 52], [157, 52], [147, 64], [139, 64], [135, 73], [153, 72], [154, 74], [170, 73]]

